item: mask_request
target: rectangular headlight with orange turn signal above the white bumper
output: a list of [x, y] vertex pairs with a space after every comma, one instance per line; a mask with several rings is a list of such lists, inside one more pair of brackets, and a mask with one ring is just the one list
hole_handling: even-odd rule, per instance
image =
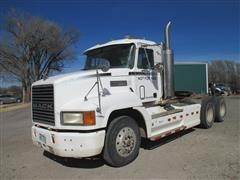
[[62, 112], [63, 125], [95, 125], [95, 112]]

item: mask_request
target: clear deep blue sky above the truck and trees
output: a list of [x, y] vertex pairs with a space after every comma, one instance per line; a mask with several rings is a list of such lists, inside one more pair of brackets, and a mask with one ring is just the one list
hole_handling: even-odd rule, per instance
[[[0, 12], [10, 8], [55, 21], [81, 32], [74, 46], [80, 59], [96, 43], [134, 35], [160, 42], [163, 26], [172, 24], [172, 47], [177, 61], [240, 60], [240, 1], [234, 0], [1, 0]], [[1, 22], [1, 21], [0, 21]]]

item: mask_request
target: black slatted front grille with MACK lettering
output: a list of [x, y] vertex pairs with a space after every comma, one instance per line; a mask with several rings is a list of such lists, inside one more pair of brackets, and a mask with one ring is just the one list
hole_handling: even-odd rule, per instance
[[54, 125], [54, 88], [52, 84], [32, 87], [32, 118], [34, 122]]

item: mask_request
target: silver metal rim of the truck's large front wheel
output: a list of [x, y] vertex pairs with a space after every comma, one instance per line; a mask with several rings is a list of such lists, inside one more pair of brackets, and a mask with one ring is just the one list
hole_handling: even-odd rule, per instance
[[136, 134], [130, 127], [125, 127], [119, 131], [116, 138], [116, 150], [122, 157], [129, 156], [136, 146]]

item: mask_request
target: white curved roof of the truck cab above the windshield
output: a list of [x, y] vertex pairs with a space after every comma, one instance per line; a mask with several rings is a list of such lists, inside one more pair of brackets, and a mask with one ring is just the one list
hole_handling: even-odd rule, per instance
[[149, 41], [149, 40], [145, 40], [145, 39], [118, 39], [118, 40], [113, 40], [113, 41], [109, 41], [107, 43], [103, 43], [103, 44], [97, 44], [87, 50], [85, 50], [84, 53], [93, 50], [93, 49], [97, 49], [97, 48], [101, 48], [101, 47], [106, 47], [106, 46], [111, 46], [111, 45], [117, 45], [117, 44], [145, 44], [145, 45], [153, 45], [156, 44], [156, 42], [154, 41]]

